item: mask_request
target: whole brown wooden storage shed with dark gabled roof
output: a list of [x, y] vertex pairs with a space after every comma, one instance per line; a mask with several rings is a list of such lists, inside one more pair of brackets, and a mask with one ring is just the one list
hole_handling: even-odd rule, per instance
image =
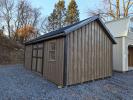
[[98, 16], [25, 43], [25, 68], [58, 86], [112, 75], [115, 40]]

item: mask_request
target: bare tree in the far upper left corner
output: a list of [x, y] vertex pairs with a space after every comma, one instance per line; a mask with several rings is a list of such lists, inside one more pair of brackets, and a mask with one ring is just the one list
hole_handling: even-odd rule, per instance
[[0, 18], [5, 23], [9, 37], [11, 37], [11, 21], [13, 19], [14, 0], [0, 0]]

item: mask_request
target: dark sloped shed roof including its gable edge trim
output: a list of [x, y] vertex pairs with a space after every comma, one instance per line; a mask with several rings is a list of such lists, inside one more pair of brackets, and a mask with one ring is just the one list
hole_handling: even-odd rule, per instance
[[[70, 33], [71, 31], [74, 31], [94, 20], [99, 20], [102, 23], [102, 20], [100, 20], [100, 16], [99, 15], [96, 15], [96, 16], [92, 16], [92, 17], [89, 17], [89, 18], [86, 18], [82, 21], [79, 21], [77, 23], [74, 23], [74, 24], [71, 24], [71, 25], [68, 25], [68, 26], [65, 26], [65, 27], [62, 27], [60, 29], [57, 29], [57, 30], [54, 30], [54, 31], [51, 31], [49, 33], [46, 33], [40, 37], [37, 37], [33, 40], [30, 40], [28, 42], [26, 42], [25, 44], [32, 44], [32, 43], [36, 43], [36, 42], [41, 42], [41, 41], [44, 41], [46, 39], [51, 39], [51, 38], [55, 38], [55, 37], [59, 37], [59, 36], [65, 36], [67, 33]], [[103, 25], [103, 27], [105, 27]], [[106, 27], [105, 27], [106, 29]], [[115, 40], [113, 39], [112, 35], [110, 34], [110, 32], [106, 29], [106, 31], [109, 33], [109, 37], [111, 38], [111, 40], [115, 43]]]

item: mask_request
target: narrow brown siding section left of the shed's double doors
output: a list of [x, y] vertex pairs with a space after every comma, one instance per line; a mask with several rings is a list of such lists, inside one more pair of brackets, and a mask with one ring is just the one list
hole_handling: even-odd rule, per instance
[[25, 46], [25, 68], [31, 69], [32, 45]]

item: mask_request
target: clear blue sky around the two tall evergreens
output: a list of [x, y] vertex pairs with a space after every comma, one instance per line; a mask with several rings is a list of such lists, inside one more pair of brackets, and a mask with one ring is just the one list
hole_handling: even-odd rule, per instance
[[[43, 16], [48, 16], [54, 8], [54, 4], [59, 0], [32, 0], [31, 3], [34, 7], [41, 8], [41, 13]], [[80, 19], [83, 20], [87, 18], [89, 9], [100, 8], [102, 0], [76, 0], [78, 4], [78, 9], [80, 12]], [[65, 0], [66, 7], [70, 0]]]

